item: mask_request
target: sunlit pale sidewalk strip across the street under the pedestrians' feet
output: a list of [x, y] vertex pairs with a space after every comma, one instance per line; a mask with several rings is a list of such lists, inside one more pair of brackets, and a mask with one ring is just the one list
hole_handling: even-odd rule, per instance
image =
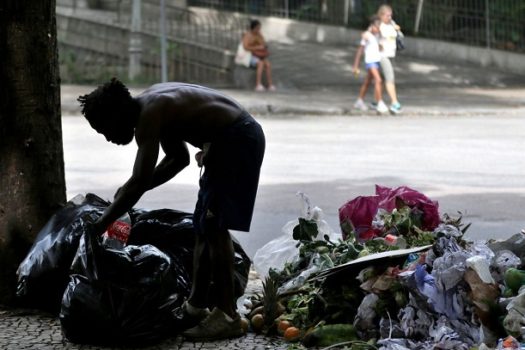
[[[62, 115], [80, 114], [76, 99], [95, 89], [93, 85], [62, 85]], [[146, 87], [131, 88], [132, 95], [142, 92]], [[403, 87], [401, 87], [403, 88]], [[310, 89], [280, 89], [275, 92], [254, 92], [252, 90], [219, 89], [241, 103], [256, 116], [283, 115], [370, 115], [353, 107], [358, 87], [337, 89], [334, 86]], [[495, 113], [520, 113], [525, 115], [524, 87], [505, 88], [484, 87], [427, 87], [405, 88], [399, 90], [403, 111], [399, 116], [420, 115], [483, 115]], [[368, 102], [372, 102], [369, 98]]]

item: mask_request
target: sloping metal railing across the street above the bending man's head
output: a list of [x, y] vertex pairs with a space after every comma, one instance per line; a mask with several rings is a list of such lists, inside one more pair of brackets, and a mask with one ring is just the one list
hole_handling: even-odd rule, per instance
[[[58, 1], [57, 29], [65, 82], [94, 82], [118, 75], [127, 80], [132, 0], [98, 0], [92, 6]], [[62, 5], [66, 6], [62, 6]], [[165, 6], [168, 80], [228, 84], [229, 61], [244, 23], [217, 12], [196, 15]], [[161, 80], [159, 1], [141, 1], [138, 83]]]

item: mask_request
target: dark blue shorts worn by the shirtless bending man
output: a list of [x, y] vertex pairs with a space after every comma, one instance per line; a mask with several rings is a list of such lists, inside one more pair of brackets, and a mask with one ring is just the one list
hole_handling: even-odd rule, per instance
[[[211, 142], [193, 214], [198, 233], [217, 228], [250, 230], [265, 145], [261, 126], [248, 112]], [[212, 222], [214, 227], [208, 230]]]

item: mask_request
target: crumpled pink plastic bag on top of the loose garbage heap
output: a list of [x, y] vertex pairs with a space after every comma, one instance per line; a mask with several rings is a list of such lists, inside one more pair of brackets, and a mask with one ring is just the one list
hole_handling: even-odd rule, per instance
[[372, 220], [379, 208], [392, 211], [396, 208], [396, 201], [401, 200], [411, 208], [423, 212], [424, 230], [433, 230], [439, 225], [438, 203], [430, 200], [424, 194], [401, 186], [392, 190], [389, 187], [376, 185], [375, 196], [359, 196], [345, 203], [339, 208], [339, 223], [343, 238], [354, 231], [359, 240], [368, 240], [379, 236], [380, 231], [372, 228]]

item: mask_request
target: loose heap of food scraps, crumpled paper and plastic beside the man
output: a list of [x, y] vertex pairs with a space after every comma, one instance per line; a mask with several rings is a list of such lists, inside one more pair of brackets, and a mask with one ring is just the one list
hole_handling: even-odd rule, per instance
[[461, 213], [376, 186], [339, 209], [335, 233], [300, 196], [302, 216], [254, 257], [263, 293], [240, 299], [252, 329], [306, 347], [520, 349], [523, 232], [470, 242]]

